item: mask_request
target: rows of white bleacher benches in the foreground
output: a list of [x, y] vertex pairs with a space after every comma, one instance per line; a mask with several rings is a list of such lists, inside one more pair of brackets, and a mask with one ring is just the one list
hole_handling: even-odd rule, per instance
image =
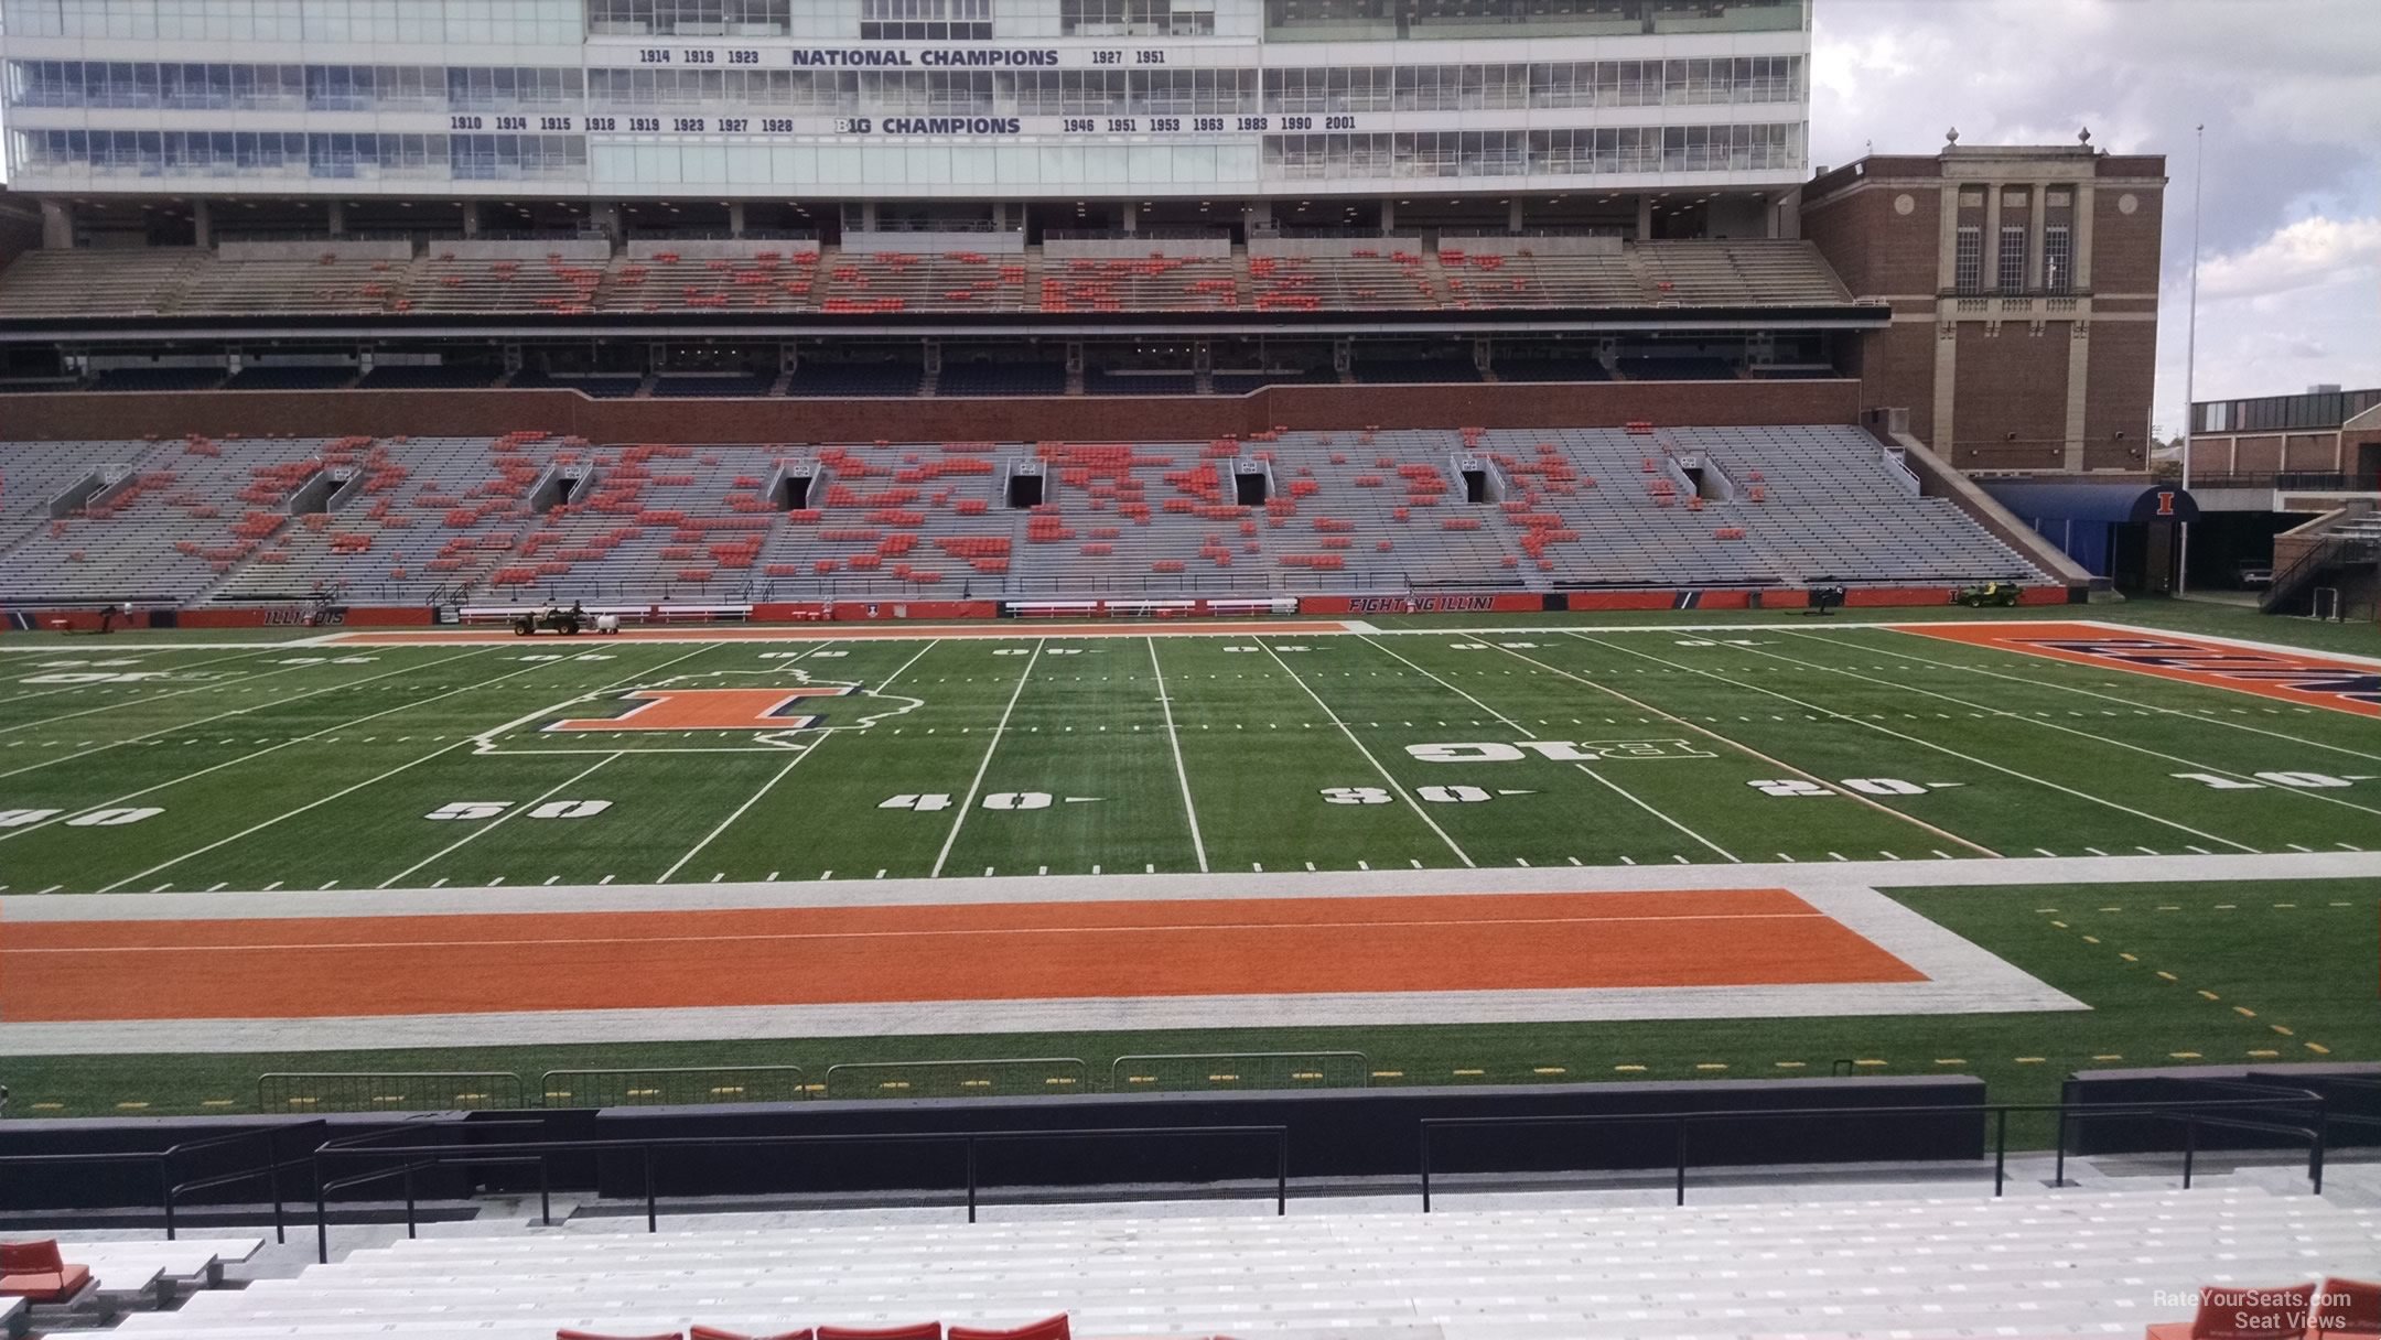
[[557, 1326], [1017, 1326], [1067, 1311], [1086, 1338], [2031, 1340], [2141, 1335], [2174, 1319], [2157, 1292], [2350, 1271], [2381, 1235], [2381, 1209], [2252, 1185], [1683, 1209], [1529, 1200], [1431, 1216], [1331, 1202], [1286, 1219], [1019, 1209], [974, 1226], [812, 1211], [660, 1235], [598, 1219], [360, 1250], [119, 1330], [548, 1340]]

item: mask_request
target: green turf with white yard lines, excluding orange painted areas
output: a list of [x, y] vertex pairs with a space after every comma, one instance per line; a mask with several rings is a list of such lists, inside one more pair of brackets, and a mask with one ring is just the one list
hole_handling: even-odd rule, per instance
[[[2050, 612], [2057, 616], [2060, 612]], [[2095, 609], [2093, 616], [2100, 612]], [[1907, 621], [1898, 612], [1895, 621]], [[2381, 652], [2205, 607], [2129, 624]], [[1374, 1083], [2381, 1059], [2381, 878], [2081, 883], [2381, 850], [2381, 719], [1855, 619], [1383, 619], [1379, 635], [0, 643], [0, 950], [36, 893], [1214, 876], [2060, 857], [1910, 909], [2088, 1012], [0, 1057], [12, 1116], [248, 1109], [262, 1071], [1360, 1050]], [[633, 690], [829, 688], [807, 731]], [[650, 697], [643, 702], [652, 702]], [[752, 700], [738, 697], [743, 709]], [[674, 712], [674, 702], [648, 712]], [[555, 721], [590, 728], [550, 731]], [[1531, 743], [1536, 747], [1519, 747]], [[1445, 759], [1445, 762], [1441, 762]], [[0, 957], [10, 983], [55, 971]], [[500, 1040], [490, 1040], [500, 1042]]]

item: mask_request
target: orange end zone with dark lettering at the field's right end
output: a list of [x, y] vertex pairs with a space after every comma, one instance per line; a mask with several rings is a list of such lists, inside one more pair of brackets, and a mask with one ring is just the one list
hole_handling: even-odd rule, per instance
[[1891, 628], [1995, 652], [2226, 688], [2298, 707], [2381, 716], [2381, 666], [2314, 652], [2267, 652], [2155, 628], [2093, 624], [1893, 624]]

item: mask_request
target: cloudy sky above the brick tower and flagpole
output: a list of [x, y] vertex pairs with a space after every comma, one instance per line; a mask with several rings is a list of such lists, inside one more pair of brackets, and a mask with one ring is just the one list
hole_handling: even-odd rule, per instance
[[1814, 0], [1812, 162], [1962, 143], [2167, 155], [2162, 433], [2198, 400], [2381, 386], [2381, 0]]

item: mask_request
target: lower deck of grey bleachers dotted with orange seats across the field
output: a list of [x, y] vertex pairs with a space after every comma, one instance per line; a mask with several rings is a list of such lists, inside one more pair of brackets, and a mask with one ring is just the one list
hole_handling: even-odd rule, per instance
[[[1019, 469], [1038, 507], [1007, 507]], [[567, 502], [562, 471], [590, 471]], [[783, 474], [814, 481], [805, 509], [783, 512]], [[50, 602], [2045, 581], [1843, 426], [21, 443], [0, 450], [0, 595]]]

